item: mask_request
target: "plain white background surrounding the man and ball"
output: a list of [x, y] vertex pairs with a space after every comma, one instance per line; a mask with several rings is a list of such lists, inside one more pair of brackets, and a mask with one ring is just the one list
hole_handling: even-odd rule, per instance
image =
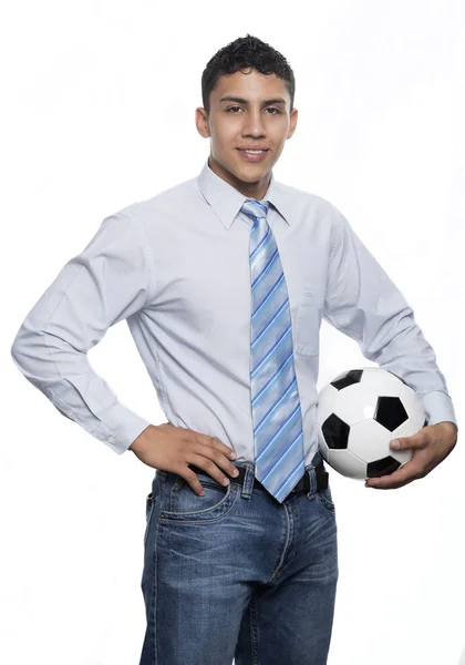
[[[106, 215], [199, 173], [202, 72], [250, 32], [296, 74], [299, 121], [277, 180], [335, 204], [404, 293], [461, 427], [465, 4], [28, 0], [2, 14], [0, 661], [135, 664], [154, 471], [113, 454], [21, 376], [18, 328]], [[124, 321], [90, 359], [123, 403], [166, 421]], [[372, 365], [326, 321], [320, 362], [319, 389]], [[399, 490], [330, 469], [340, 581], [329, 665], [464, 658], [461, 434]]]

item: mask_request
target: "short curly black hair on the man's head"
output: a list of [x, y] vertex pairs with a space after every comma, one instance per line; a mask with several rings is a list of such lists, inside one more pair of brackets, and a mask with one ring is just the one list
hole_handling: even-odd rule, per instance
[[210, 112], [210, 93], [223, 75], [252, 68], [260, 74], [276, 74], [286, 81], [290, 94], [290, 110], [293, 109], [296, 81], [288, 61], [279, 51], [247, 33], [223, 49], [208, 61], [202, 74], [202, 101], [207, 113]]

